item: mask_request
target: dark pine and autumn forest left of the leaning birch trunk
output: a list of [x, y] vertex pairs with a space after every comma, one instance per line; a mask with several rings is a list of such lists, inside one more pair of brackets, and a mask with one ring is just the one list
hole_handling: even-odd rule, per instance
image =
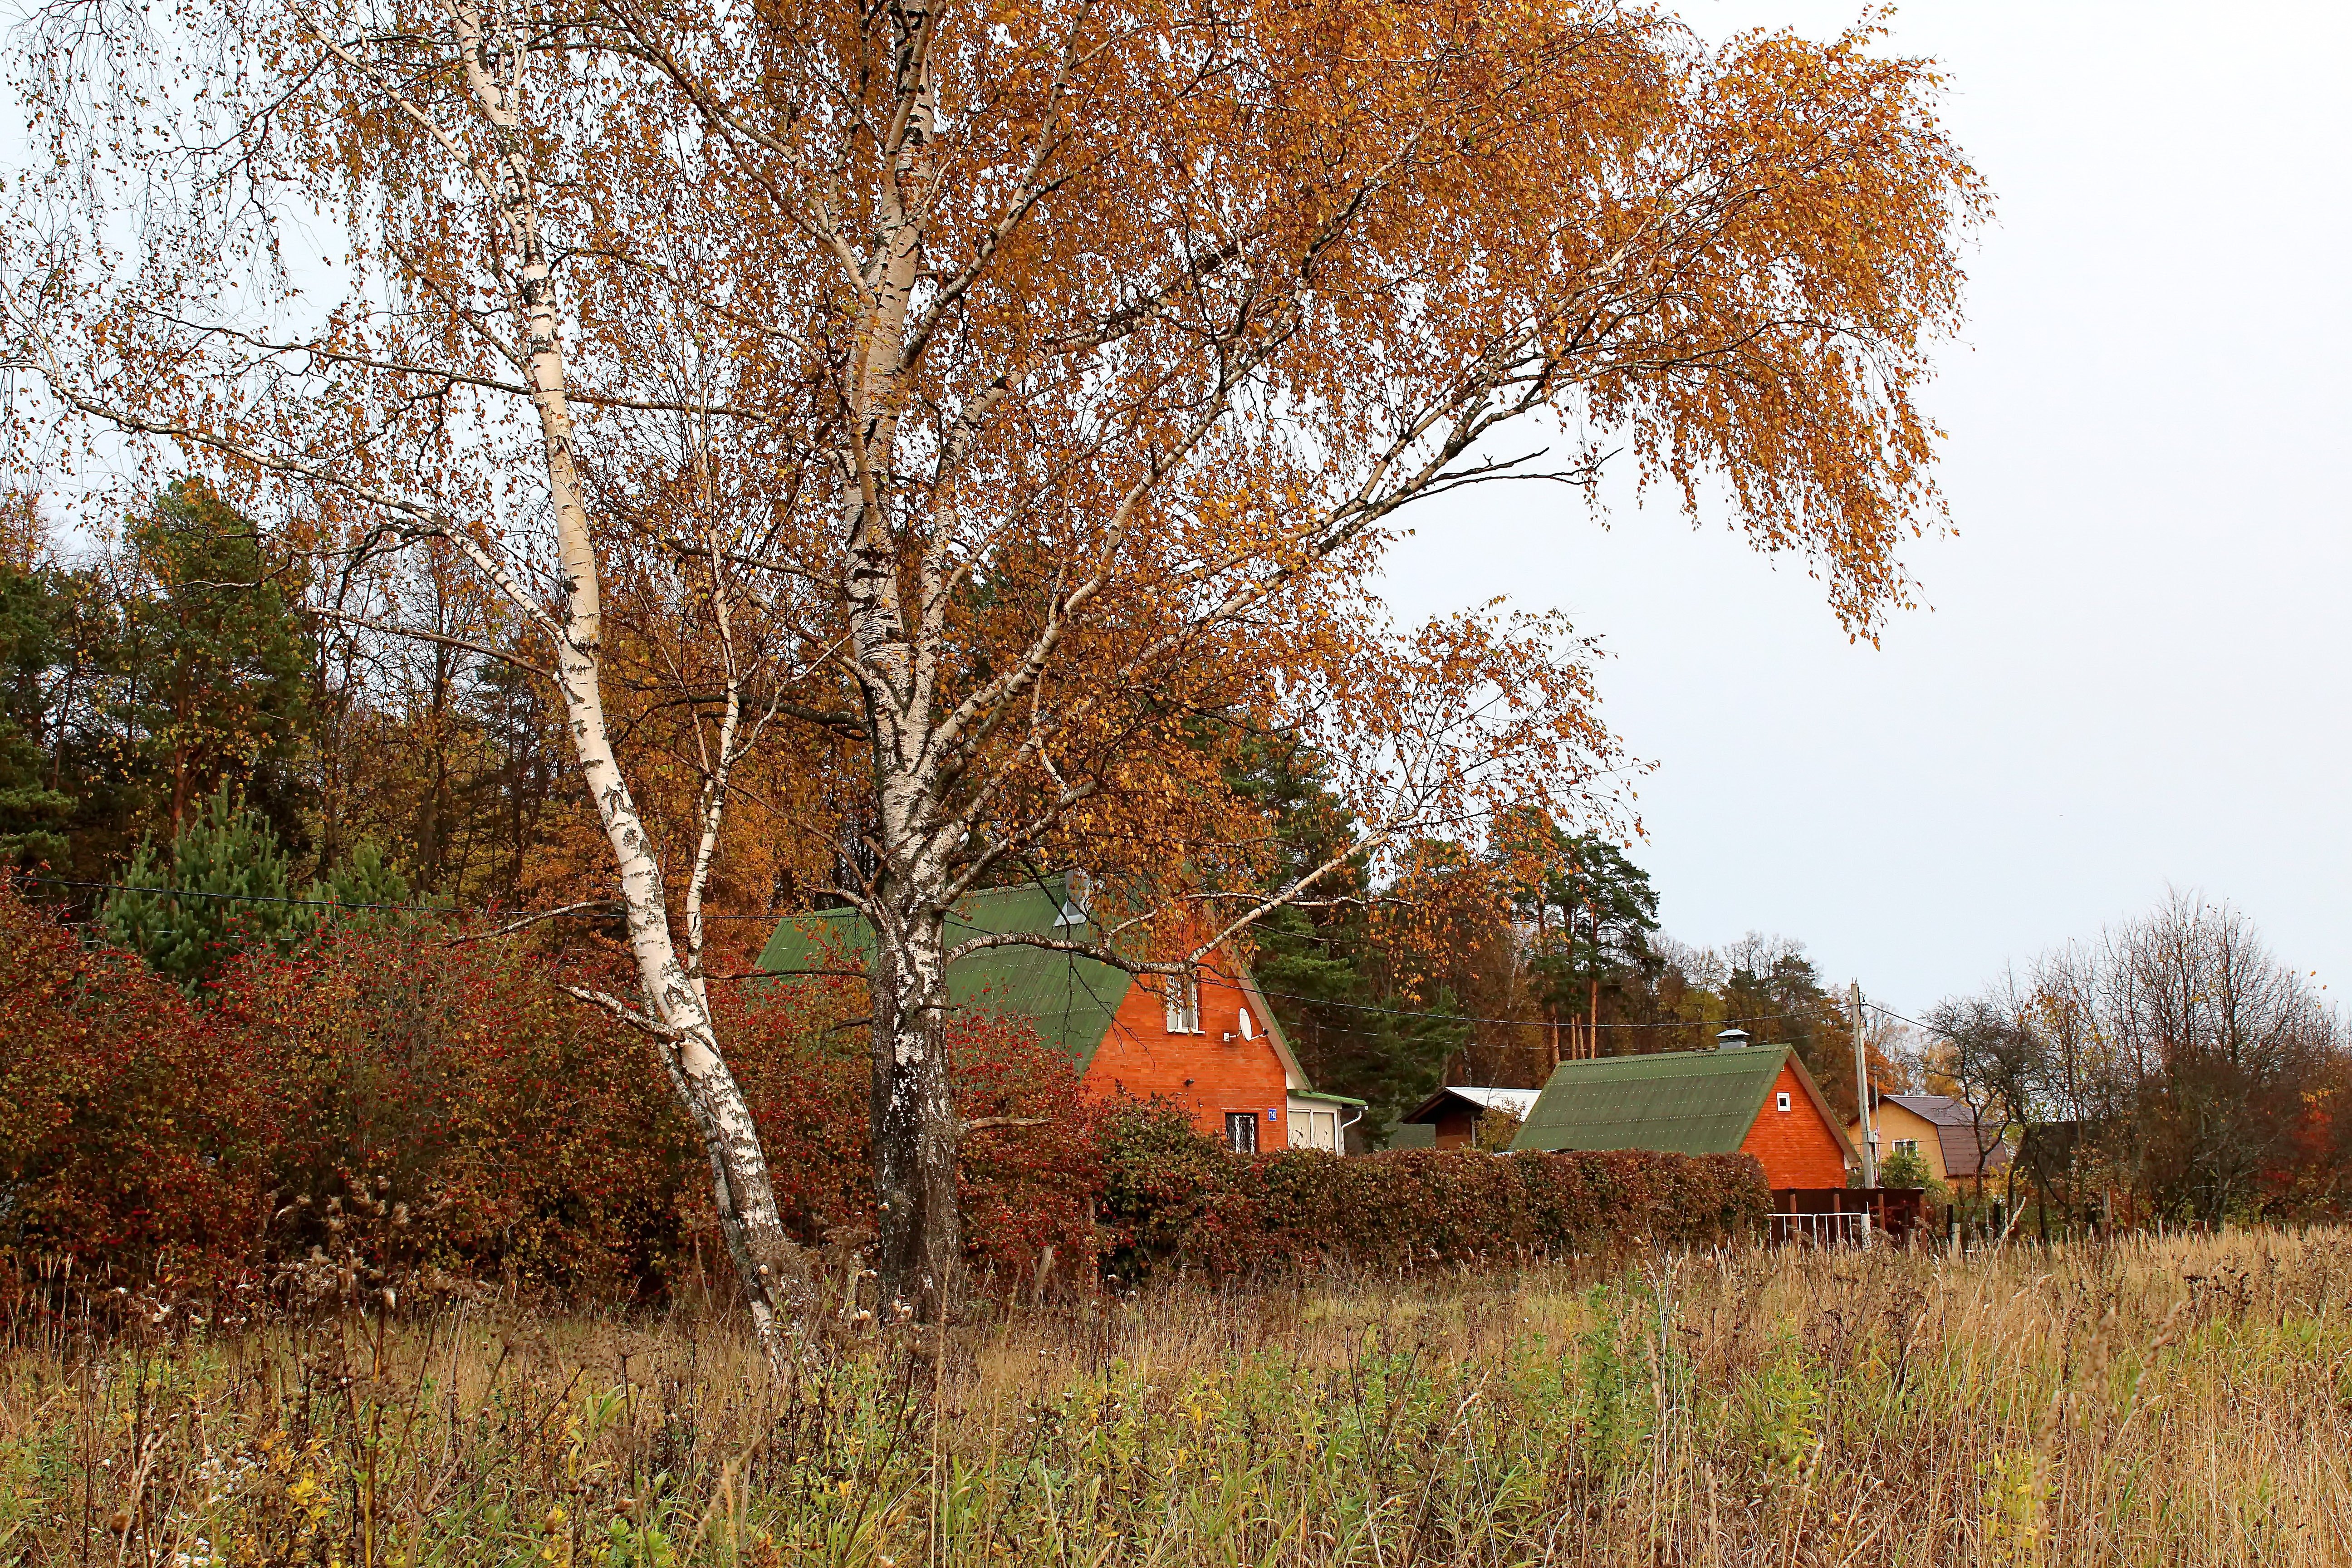
[[[299, 541], [263, 541], [200, 482], [111, 538], [54, 541], [33, 505], [0, 557], [0, 851], [111, 882], [221, 785], [299, 877], [379, 846], [419, 891], [515, 905], [562, 879], [560, 743], [506, 628], [447, 602], [456, 642], [329, 621]], [[433, 574], [393, 585], [430, 592]], [[71, 903], [94, 905], [75, 891]]]

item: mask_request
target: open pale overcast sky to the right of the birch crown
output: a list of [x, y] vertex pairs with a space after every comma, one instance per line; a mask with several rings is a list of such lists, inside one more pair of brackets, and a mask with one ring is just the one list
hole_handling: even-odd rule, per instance
[[[1684, 5], [1708, 35], [1858, 14]], [[1891, 47], [1950, 68], [1999, 200], [1929, 390], [1933, 609], [1851, 646], [1719, 522], [1599, 531], [1538, 487], [1425, 515], [1390, 602], [1508, 588], [1606, 639], [1604, 712], [1661, 764], [1635, 858], [1684, 940], [1795, 936], [1912, 1011], [2173, 884], [2340, 980], [2352, 7], [1933, 0]]]

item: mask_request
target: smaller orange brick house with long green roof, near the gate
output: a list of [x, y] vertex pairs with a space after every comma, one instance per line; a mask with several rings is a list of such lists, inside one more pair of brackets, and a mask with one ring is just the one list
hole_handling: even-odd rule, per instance
[[1844, 1187], [1860, 1164], [1797, 1051], [1738, 1030], [1712, 1051], [1559, 1063], [1510, 1147], [1755, 1154], [1776, 1192]]

